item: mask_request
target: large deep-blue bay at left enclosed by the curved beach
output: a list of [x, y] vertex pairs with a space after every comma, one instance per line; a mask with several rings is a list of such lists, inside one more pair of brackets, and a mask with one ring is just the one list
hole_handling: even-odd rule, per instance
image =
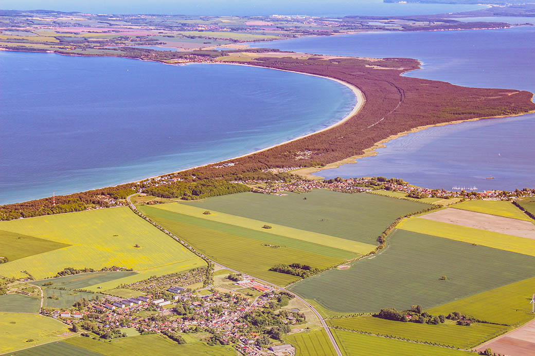
[[340, 83], [224, 64], [0, 51], [0, 204], [175, 172], [332, 125]]

